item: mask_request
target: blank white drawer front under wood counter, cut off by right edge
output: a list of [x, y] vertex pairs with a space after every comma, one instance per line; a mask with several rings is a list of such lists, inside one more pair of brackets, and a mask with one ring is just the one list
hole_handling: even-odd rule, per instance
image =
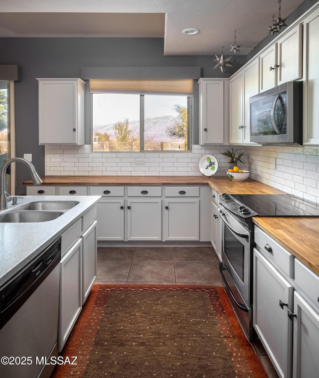
[[295, 258], [295, 283], [319, 306], [319, 276], [297, 258]]

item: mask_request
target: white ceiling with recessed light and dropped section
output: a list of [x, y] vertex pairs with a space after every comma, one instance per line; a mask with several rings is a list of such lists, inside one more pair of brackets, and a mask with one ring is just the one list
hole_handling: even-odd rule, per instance
[[[302, 2], [282, 0], [282, 18]], [[278, 0], [0, 0], [0, 37], [160, 37], [164, 55], [227, 55], [236, 30], [246, 55], [278, 12]]]

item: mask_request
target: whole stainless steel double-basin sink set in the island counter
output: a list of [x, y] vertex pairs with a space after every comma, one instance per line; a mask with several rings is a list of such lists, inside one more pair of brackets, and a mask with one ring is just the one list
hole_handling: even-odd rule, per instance
[[78, 201], [29, 202], [0, 215], [0, 223], [47, 222], [60, 217], [76, 206]]

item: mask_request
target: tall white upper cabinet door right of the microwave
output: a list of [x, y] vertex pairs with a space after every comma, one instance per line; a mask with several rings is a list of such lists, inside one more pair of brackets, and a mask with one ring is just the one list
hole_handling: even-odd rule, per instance
[[304, 20], [304, 122], [305, 145], [319, 145], [319, 10]]

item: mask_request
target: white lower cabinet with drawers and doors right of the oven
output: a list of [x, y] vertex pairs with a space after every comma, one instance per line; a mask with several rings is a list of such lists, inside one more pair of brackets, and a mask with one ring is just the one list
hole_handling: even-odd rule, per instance
[[253, 324], [278, 375], [317, 378], [319, 276], [255, 227]]

